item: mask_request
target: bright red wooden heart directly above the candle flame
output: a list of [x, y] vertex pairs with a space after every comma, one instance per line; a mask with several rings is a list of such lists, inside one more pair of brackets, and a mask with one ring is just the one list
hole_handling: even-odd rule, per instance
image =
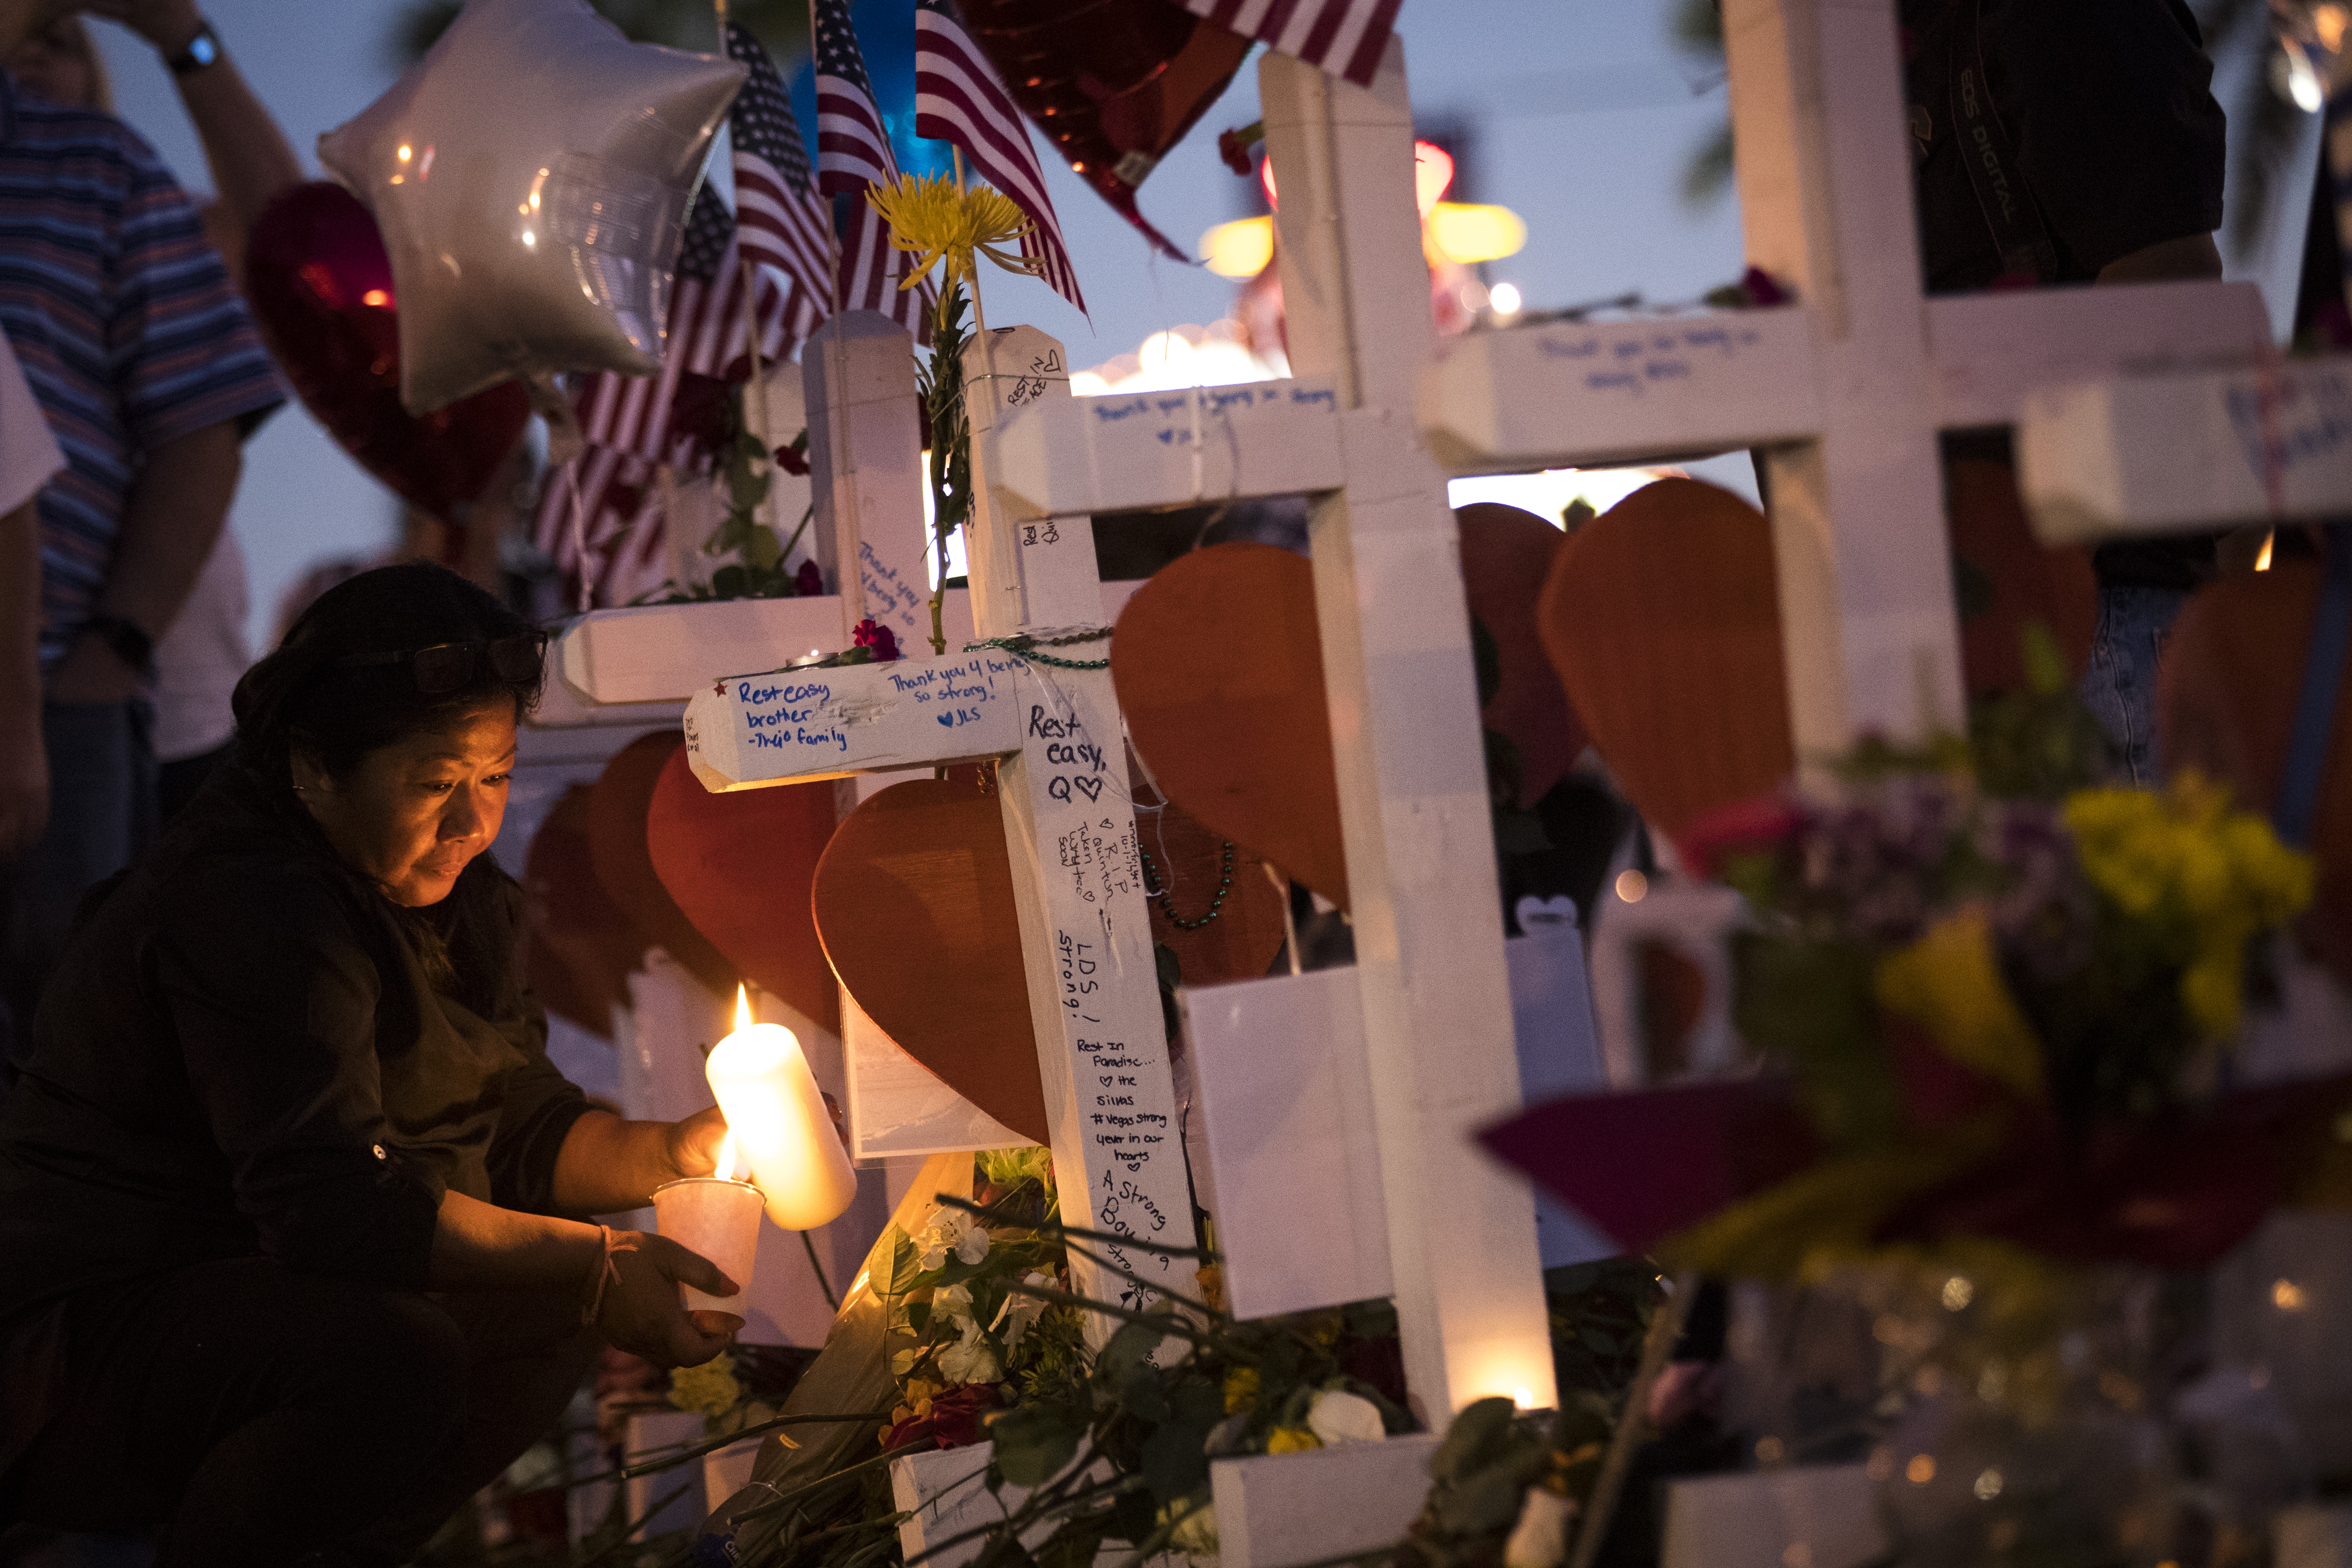
[[644, 849], [694, 929], [762, 990], [840, 1034], [842, 992], [816, 940], [809, 884], [833, 837], [833, 780], [713, 795], [670, 752]]

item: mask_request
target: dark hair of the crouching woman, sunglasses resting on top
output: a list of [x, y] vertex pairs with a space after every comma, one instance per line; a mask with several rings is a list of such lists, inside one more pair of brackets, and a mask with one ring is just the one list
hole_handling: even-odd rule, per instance
[[294, 750], [346, 778], [369, 752], [416, 733], [449, 729], [468, 712], [506, 698], [515, 717], [539, 703], [539, 682], [501, 679], [475, 658], [473, 679], [423, 693], [402, 663], [350, 663], [414, 654], [442, 642], [494, 642], [532, 625], [494, 595], [447, 567], [405, 562], [336, 583], [306, 609], [278, 651], [238, 682], [238, 762], [270, 795], [292, 802]]

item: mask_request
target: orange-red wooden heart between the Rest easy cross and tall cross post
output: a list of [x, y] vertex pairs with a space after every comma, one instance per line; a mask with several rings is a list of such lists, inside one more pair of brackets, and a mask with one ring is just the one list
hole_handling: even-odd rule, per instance
[[1169, 799], [1348, 907], [1305, 557], [1251, 543], [1178, 555], [1120, 611], [1110, 679]]

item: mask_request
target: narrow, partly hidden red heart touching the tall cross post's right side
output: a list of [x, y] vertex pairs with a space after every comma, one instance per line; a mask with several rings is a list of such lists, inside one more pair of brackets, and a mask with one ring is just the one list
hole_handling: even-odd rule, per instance
[[1463, 536], [1463, 592], [1470, 614], [1494, 637], [1503, 684], [1486, 703], [1486, 729], [1519, 750], [1519, 804], [1534, 806], [1585, 750], [1585, 726], [1543, 654], [1536, 604], [1569, 536], [1515, 505], [1465, 505], [1454, 512]]

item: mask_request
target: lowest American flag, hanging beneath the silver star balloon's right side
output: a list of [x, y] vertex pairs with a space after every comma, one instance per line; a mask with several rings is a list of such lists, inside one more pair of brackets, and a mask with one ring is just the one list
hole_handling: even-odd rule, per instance
[[[602, 371], [572, 400], [581, 454], [548, 477], [532, 538], [567, 578], [586, 583], [597, 604], [626, 604], [661, 581], [666, 543], [652, 480], [661, 463], [684, 468], [694, 456], [696, 437], [675, 418], [689, 378], [743, 381], [750, 374], [741, 254], [736, 221], [717, 190], [703, 186], [677, 252], [661, 374]], [[788, 296], [767, 273], [753, 268], [753, 275], [760, 362], [771, 364], [793, 346], [786, 334]]]

